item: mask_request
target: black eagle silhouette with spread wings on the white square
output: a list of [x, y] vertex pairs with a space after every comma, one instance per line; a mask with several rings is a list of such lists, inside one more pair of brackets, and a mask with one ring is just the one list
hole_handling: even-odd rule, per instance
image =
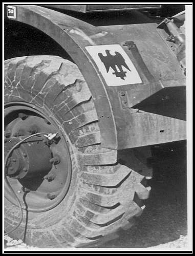
[[107, 73], [109, 72], [110, 68], [112, 68], [114, 70], [112, 74], [124, 80], [126, 72], [123, 71], [122, 66], [129, 71], [131, 70], [128, 68], [123, 56], [119, 52], [115, 52], [115, 55], [111, 55], [110, 52], [110, 50], [105, 50], [106, 56], [103, 56], [102, 53], [98, 53], [98, 56], [103, 62]]

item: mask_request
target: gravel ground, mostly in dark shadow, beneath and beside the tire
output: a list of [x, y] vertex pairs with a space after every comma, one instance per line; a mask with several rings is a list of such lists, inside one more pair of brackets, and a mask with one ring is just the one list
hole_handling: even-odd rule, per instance
[[[187, 248], [186, 158], [172, 157], [154, 166], [152, 190], [136, 225], [119, 231], [119, 238], [93, 248]], [[7, 247], [35, 248], [5, 237]], [[14, 245], [14, 246], [13, 246]]]

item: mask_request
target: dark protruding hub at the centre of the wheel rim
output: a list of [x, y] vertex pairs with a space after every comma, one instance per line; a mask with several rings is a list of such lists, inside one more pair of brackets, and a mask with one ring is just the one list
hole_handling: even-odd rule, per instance
[[[5, 152], [12, 148], [23, 137], [12, 138], [5, 144]], [[44, 177], [52, 168], [52, 152], [42, 138], [30, 138], [21, 143], [8, 158], [7, 175], [14, 179]]]

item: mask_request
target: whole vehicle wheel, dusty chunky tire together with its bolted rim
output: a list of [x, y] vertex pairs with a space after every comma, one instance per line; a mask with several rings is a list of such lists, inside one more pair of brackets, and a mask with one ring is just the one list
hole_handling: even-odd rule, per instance
[[[77, 66], [57, 56], [5, 61], [7, 179], [23, 206], [10, 233], [39, 248], [81, 247], [127, 229], [144, 208], [150, 169], [134, 150], [101, 147], [94, 101]], [[133, 162], [134, 169], [128, 159]], [[5, 184], [5, 230], [19, 207]]]

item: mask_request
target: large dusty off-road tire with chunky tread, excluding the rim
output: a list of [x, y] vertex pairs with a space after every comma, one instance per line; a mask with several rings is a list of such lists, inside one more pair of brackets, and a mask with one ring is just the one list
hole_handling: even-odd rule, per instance
[[[81, 247], [110, 239], [119, 228], [132, 225], [144, 208], [142, 199], [149, 196], [145, 181], [151, 175], [134, 150], [117, 152], [101, 147], [94, 101], [74, 63], [57, 56], [6, 60], [5, 105], [17, 111], [25, 106], [54, 122], [71, 160], [63, 198], [50, 209], [24, 208], [23, 222], [10, 233], [12, 238], [39, 248]], [[6, 123], [9, 126], [9, 120]], [[11, 132], [9, 136], [15, 135]], [[13, 188], [21, 183], [8, 179]], [[5, 189], [7, 198], [6, 193]], [[18, 206], [5, 199], [5, 230], [14, 228], [18, 221]]]

